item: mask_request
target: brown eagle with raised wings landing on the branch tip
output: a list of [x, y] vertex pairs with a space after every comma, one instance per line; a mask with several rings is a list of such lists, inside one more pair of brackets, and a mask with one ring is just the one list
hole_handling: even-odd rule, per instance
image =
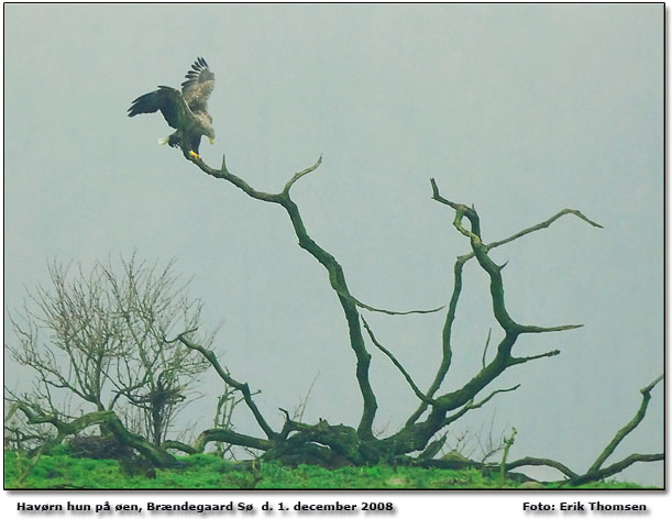
[[212, 118], [207, 111], [208, 98], [214, 88], [214, 74], [210, 71], [206, 60], [199, 57], [186, 77], [181, 91], [159, 86], [158, 90], [140, 96], [129, 108], [129, 117], [161, 110], [166, 122], [176, 132], [159, 142], [179, 146], [185, 153], [198, 156], [200, 137], [206, 135], [210, 143], [214, 140]]

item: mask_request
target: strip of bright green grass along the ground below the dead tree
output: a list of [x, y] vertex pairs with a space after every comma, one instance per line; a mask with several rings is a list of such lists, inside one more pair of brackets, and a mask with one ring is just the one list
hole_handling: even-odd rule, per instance
[[[343, 467], [327, 470], [300, 465], [287, 468], [262, 463], [254, 471], [240, 471], [213, 455], [199, 454], [181, 459], [183, 466], [129, 475], [115, 460], [76, 459], [67, 455], [43, 455], [22, 482], [30, 466], [25, 455], [4, 453], [5, 489], [497, 489], [498, 475], [483, 475], [475, 468], [447, 471], [439, 468]], [[506, 481], [504, 488], [519, 487]], [[552, 487], [549, 487], [552, 488]], [[585, 488], [640, 488], [635, 484], [598, 483]]]

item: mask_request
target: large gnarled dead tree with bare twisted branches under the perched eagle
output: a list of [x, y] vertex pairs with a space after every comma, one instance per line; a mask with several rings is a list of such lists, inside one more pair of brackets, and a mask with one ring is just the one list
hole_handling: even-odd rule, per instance
[[[341, 308], [345, 324], [349, 330], [350, 347], [354, 353], [354, 380], [360, 389], [362, 399], [362, 415], [359, 423], [354, 427], [343, 424], [330, 424], [327, 420], [320, 419], [318, 423], [302, 423], [293, 420], [287, 411], [283, 411], [286, 416], [285, 423], [282, 430], [273, 429], [264, 418], [261, 410], [254, 402], [253, 394], [246, 383], [236, 380], [227, 368], [220, 365], [213, 352], [198, 344], [191, 336], [194, 330], [187, 330], [184, 333], [176, 335], [174, 341], [181, 342], [185, 346], [200, 352], [203, 357], [212, 365], [218, 375], [227, 384], [242, 394], [242, 398], [249, 409], [252, 411], [262, 435], [253, 437], [241, 434], [227, 429], [210, 429], [203, 431], [195, 445], [197, 451], [201, 451], [209, 442], [223, 441], [231, 444], [243, 445], [251, 449], [264, 451], [263, 457], [266, 460], [280, 460], [288, 463], [321, 463], [328, 466], [338, 466], [342, 464], [371, 464], [378, 462], [406, 462], [415, 463], [409, 457], [409, 454], [420, 453], [418, 460], [431, 459], [429, 451], [433, 455], [441, 448], [436, 449], [436, 442], [431, 442], [442, 429], [450, 423], [460, 419], [466, 412], [484, 406], [493, 397], [498, 394], [508, 393], [517, 389], [518, 386], [509, 388], [489, 389], [485, 396], [482, 396], [486, 389], [492, 387], [493, 383], [508, 368], [529, 362], [535, 362], [546, 357], [552, 357], [560, 354], [559, 350], [552, 350], [531, 356], [517, 356], [515, 354], [515, 345], [518, 338], [522, 334], [539, 334], [568, 331], [581, 327], [582, 324], [561, 324], [554, 327], [540, 327], [536, 324], [526, 324], [518, 322], [511, 317], [506, 307], [504, 297], [504, 278], [503, 268], [505, 265], [497, 265], [489, 256], [489, 252], [498, 246], [510, 243], [527, 234], [536, 232], [540, 229], [548, 228], [555, 220], [563, 216], [573, 216], [579, 218], [592, 227], [601, 228], [598, 223], [585, 217], [582, 212], [573, 209], [563, 209], [548, 220], [525, 229], [504, 240], [485, 243], [481, 238], [481, 222], [476, 210], [463, 203], [451, 201], [439, 191], [439, 187], [434, 179], [431, 179], [432, 198], [437, 202], [447, 206], [454, 212], [453, 227], [469, 240], [471, 252], [459, 256], [455, 261], [453, 275], [453, 290], [450, 297], [448, 308], [441, 307], [430, 310], [408, 310], [408, 311], [392, 311], [386, 309], [375, 308], [366, 305], [357, 299], [351, 292], [346, 283], [346, 277], [343, 268], [337, 258], [320, 246], [308, 233], [307, 228], [301, 218], [301, 213], [297, 203], [291, 199], [291, 187], [308, 174], [315, 172], [321, 164], [321, 157], [310, 167], [296, 173], [284, 186], [283, 190], [277, 194], [268, 194], [260, 191], [250, 186], [244, 179], [232, 174], [222, 159], [222, 165], [219, 169], [208, 166], [201, 158], [195, 158], [185, 154], [185, 157], [192, 162], [205, 174], [220, 180], [232, 184], [241, 189], [249, 197], [267, 203], [274, 203], [284, 209], [293, 225], [294, 232], [298, 239], [298, 244], [317, 262], [319, 262], [328, 274], [328, 279], [331, 288], [334, 290]], [[460, 301], [462, 291], [462, 270], [466, 262], [475, 258], [480, 267], [489, 278], [489, 298], [492, 302], [493, 314], [499, 324], [504, 334], [503, 339], [496, 346], [494, 357], [489, 362], [485, 362], [485, 354], [482, 369], [475, 373], [461, 388], [450, 391], [440, 393], [441, 385], [449, 373], [452, 361], [451, 336], [453, 322], [455, 320], [455, 311]], [[388, 314], [405, 314], [405, 313], [428, 313], [445, 311], [445, 320], [441, 334], [441, 352], [442, 358], [437, 368], [433, 382], [427, 389], [420, 388], [415, 382], [411, 374], [401, 365], [395, 357], [394, 353], [386, 349], [376, 339], [374, 331], [364, 318], [364, 312], [385, 312]], [[416, 397], [418, 398], [417, 409], [407, 418], [404, 427], [397, 432], [385, 438], [376, 438], [372, 430], [372, 424], [376, 416], [377, 401], [374, 388], [370, 379], [371, 353], [368, 352], [367, 341], [373, 347], [381, 350], [389, 361], [397, 367], [400, 375], [409, 385]], [[489, 340], [488, 340], [489, 342]], [[651, 386], [652, 387], [652, 386]], [[650, 390], [650, 389], [649, 389]], [[648, 393], [647, 393], [648, 394]], [[642, 417], [643, 411], [642, 410]], [[636, 424], [635, 424], [636, 427]], [[605, 451], [606, 452], [606, 451]], [[638, 461], [657, 461], [661, 460], [662, 454], [653, 455], [637, 455], [618, 465], [620, 470], [628, 466], [630, 463]], [[607, 474], [609, 471], [601, 471], [602, 461], [598, 460], [593, 471], [588, 471], [592, 475]], [[598, 463], [599, 462], [599, 463]], [[527, 462], [518, 461], [507, 463], [506, 467], [513, 470], [526, 464], [540, 464], [539, 460], [528, 459]], [[541, 463], [543, 464], [543, 463]], [[558, 467], [558, 462], [547, 461], [549, 466]], [[572, 479], [576, 479], [573, 473]], [[588, 477], [590, 478], [590, 477]]]

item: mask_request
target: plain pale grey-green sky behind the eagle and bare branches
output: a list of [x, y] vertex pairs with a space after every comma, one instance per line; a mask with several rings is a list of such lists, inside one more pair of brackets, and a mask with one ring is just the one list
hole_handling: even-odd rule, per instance
[[[341, 262], [352, 292], [390, 309], [448, 302], [467, 243], [442, 194], [474, 203], [485, 240], [562, 208], [565, 217], [494, 253], [511, 314], [540, 325], [510, 369], [522, 386], [459, 422], [515, 426], [511, 456], [585, 470], [634, 416], [663, 369], [663, 4], [52, 5], [5, 11], [5, 306], [57, 256], [90, 264], [137, 250], [176, 257], [208, 323], [224, 319], [223, 358], [262, 389], [282, 422], [319, 373], [305, 419], [353, 423], [360, 396], [338, 300], [296, 244], [280, 208], [252, 200], [156, 144], [159, 115], [125, 110], [177, 86], [202, 55], [217, 75], [217, 140], [202, 155], [260, 190], [294, 188], [308, 231]], [[378, 339], [421, 385], [440, 357], [442, 316], [371, 316]], [[445, 389], [481, 362], [487, 280], [470, 264]], [[11, 340], [8, 335], [5, 340]], [[416, 400], [377, 352], [376, 427]], [[7, 383], [15, 384], [12, 372]], [[206, 390], [219, 388], [212, 380]], [[659, 452], [662, 386], [618, 454]], [[202, 400], [202, 426], [213, 400]], [[249, 423], [242, 418], [241, 427]], [[255, 432], [250, 424], [249, 432]], [[623, 474], [661, 483], [662, 464]]]

